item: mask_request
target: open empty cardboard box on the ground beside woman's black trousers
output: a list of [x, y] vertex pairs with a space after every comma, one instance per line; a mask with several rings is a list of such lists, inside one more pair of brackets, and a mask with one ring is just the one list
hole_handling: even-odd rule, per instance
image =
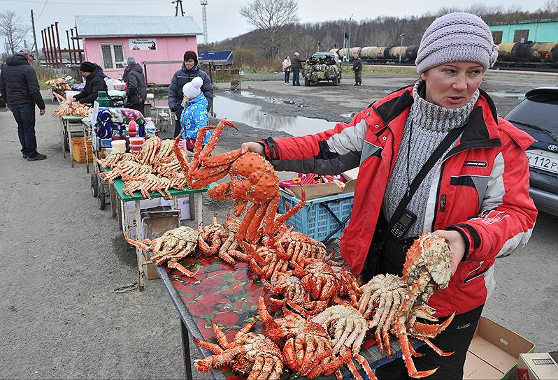
[[531, 352], [534, 346], [521, 335], [481, 316], [467, 351], [463, 379], [511, 379], [520, 353]]

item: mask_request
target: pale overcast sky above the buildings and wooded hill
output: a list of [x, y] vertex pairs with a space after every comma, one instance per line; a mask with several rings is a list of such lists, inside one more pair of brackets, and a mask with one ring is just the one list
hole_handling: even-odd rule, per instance
[[[241, 6], [247, 2], [246, 0], [208, 0], [208, 39], [210, 42], [238, 36], [238, 34], [253, 29], [238, 13]], [[478, 0], [476, 2], [478, 3]], [[458, 4], [467, 8], [473, 3], [475, 3], [473, 0], [463, 0]], [[505, 7], [510, 3], [515, 3], [522, 6], [522, 10], [536, 10], [543, 6], [545, 0], [483, 0], [482, 3], [488, 6], [502, 5]], [[363, 20], [380, 15], [421, 15], [454, 4], [455, 2], [450, 3], [448, 0], [300, 0], [298, 14], [301, 22], [348, 19], [352, 13], [354, 13], [353, 20]], [[141, 29], [141, 17], [173, 16], [175, 11], [171, 0], [0, 0], [0, 11], [13, 10], [22, 17], [24, 22], [29, 24], [31, 24], [31, 8], [35, 14], [35, 29], [39, 47], [41, 47], [41, 29], [55, 21], [59, 22], [62, 47], [66, 47], [65, 30], [74, 26], [75, 15], [130, 15], [130, 22], [136, 22], [138, 29]], [[193, 16], [201, 28], [199, 0], [183, 0], [183, 8], [186, 15]], [[29, 41], [31, 39], [32, 37], [29, 38]], [[199, 38], [199, 42], [203, 42], [203, 36]]]

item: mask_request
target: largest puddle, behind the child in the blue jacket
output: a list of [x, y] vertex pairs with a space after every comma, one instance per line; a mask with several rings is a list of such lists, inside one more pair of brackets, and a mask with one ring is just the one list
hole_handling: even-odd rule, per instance
[[213, 112], [218, 119], [229, 119], [261, 129], [284, 131], [292, 136], [326, 131], [336, 124], [336, 122], [327, 122], [324, 119], [303, 116], [272, 115], [262, 112], [262, 107], [259, 105], [235, 101], [222, 95], [213, 98]]

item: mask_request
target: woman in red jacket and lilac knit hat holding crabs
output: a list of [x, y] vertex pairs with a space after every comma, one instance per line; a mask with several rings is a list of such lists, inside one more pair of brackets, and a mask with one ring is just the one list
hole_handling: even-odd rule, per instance
[[[524, 150], [533, 139], [496, 113], [479, 89], [498, 55], [480, 17], [451, 13], [434, 20], [417, 52], [420, 80], [359, 112], [352, 122], [296, 138], [245, 142], [276, 170], [338, 174], [359, 166], [341, 254], [368, 281], [401, 274], [405, 252], [422, 231], [450, 242], [452, 278], [429, 305], [448, 329], [414, 358], [430, 379], [462, 379], [466, 351], [494, 290], [494, 260], [527, 244], [536, 219]], [[393, 228], [393, 226], [396, 228]], [[401, 358], [378, 379], [406, 379]]]

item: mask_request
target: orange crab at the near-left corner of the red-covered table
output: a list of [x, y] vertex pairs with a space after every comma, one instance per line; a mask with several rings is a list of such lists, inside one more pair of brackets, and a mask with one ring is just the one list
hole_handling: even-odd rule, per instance
[[232, 363], [233, 370], [248, 374], [253, 380], [278, 380], [283, 371], [283, 357], [279, 347], [262, 334], [249, 333], [254, 322], [248, 323], [227, 342], [222, 330], [212, 321], [211, 327], [219, 344], [194, 338], [194, 342], [213, 355], [194, 361], [194, 367], [202, 372]]

